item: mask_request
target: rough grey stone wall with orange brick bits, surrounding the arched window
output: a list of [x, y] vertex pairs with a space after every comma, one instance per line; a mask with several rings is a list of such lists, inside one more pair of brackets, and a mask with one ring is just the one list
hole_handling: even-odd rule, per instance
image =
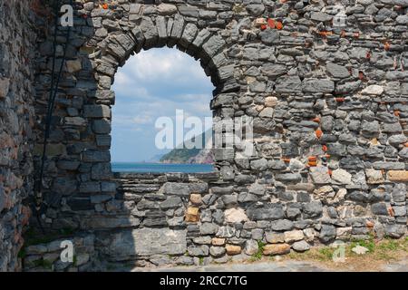
[[[15, 15], [5, 9], [17, 2], [7, 3], [1, 19]], [[270, 256], [406, 236], [407, 0], [75, 3], [70, 39], [62, 27], [57, 37], [59, 61], [67, 43], [67, 62], [41, 219], [47, 231], [71, 229], [76, 258], [61, 262], [60, 240], [34, 245], [25, 248], [24, 270], [226, 263], [256, 254], [258, 241]], [[335, 25], [339, 4], [344, 26]], [[15, 234], [24, 224], [21, 201], [33, 195], [50, 89], [54, 27], [35, 19], [35, 49], [28, 42], [36, 34], [0, 44], [0, 61], [15, 63], [15, 75], [0, 72], [5, 270], [18, 268]], [[214, 174], [112, 173], [114, 74], [132, 53], [165, 45], [199, 59], [211, 77], [215, 126], [254, 118], [255, 156], [244, 158], [238, 146], [217, 150]], [[22, 63], [25, 46], [34, 67]], [[30, 225], [38, 227], [34, 218]]]

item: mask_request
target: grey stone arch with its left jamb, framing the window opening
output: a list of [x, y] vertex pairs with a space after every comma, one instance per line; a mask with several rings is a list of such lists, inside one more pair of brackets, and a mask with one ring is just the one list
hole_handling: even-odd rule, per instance
[[[102, 35], [98, 39], [99, 53], [95, 53], [94, 57], [90, 58], [90, 65], [94, 68], [95, 98], [89, 98], [88, 102], [83, 105], [83, 117], [92, 123], [96, 146], [99, 146], [98, 142], [108, 144], [110, 140], [111, 106], [114, 104], [114, 92], [111, 91], [111, 85], [114, 73], [117, 72], [119, 66], [126, 63], [131, 54], [139, 53], [141, 49], [148, 50], [165, 45], [175, 46], [181, 52], [198, 59], [204, 72], [216, 87], [212, 102], [215, 122], [222, 120], [222, 110], [232, 107], [234, 92], [239, 91], [240, 86], [234, 76], [236, 65], [228, 59], [226, 53], [227, 43], [217, 31], [198, 28], [196, 24], [177, 13], [174, 7], [174, 5], [158, 5], [158, 11], [161, 12], [151, 16], [143, 14], [144, 5], [132, 4], [129, 19], [134, 20], [127, 30], [112, 31], [112, 33], [108, 33], [105, 28], [95, 30], [95, 35]], [[105, 10], [92, 11], [92, 14], [98, 13], [105, 13]], [[92, 155], [88, 152], [84, 154], [85, 156]], [[107, 155], [107, 153], [104, 154]], [[228, 154], [231, 156], [230, 151]], [[223, 160], [224, 155], [226, 154], [219, 150], [219, 160]], [[92, 156], [87, 158], [93, 159]], [[94, 166], [97, 167], [95, 171], [106, 172], [102, 175], [111, 175], [107, 162]]]

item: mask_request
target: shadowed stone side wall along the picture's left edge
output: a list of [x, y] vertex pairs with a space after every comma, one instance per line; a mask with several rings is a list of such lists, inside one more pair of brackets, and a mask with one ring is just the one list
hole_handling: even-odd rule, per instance
[[33, 192], [35, 32], [31, 1], [0, 1], [0, 271], [19, 268]]

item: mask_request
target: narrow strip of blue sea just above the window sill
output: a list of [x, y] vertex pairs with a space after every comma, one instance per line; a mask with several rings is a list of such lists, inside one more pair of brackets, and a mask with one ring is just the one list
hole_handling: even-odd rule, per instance
[[112, 171], [134, 173], [207, 173], [213, 172], [214, 166], [211, 164], [112, 162]]

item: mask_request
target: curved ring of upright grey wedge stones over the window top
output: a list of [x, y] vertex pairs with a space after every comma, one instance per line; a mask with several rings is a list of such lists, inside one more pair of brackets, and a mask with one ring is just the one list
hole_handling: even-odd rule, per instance
[[[142, 7], [142, 5], [136, 5]], [[168, 7], [169, 5], [159, 5]], [[170, 5], [171, 6], [171, 5]], [[139, 9], [139, 10], [138, 10]], [[131, 11], [138, 12], [141, 8], [131, 8]], [[164, 9], [165, 14], [169, 14], [170, 8]], [[135, 14], [131, 14], [135, 15]], [[102, 28], [102, 30], [105, 30]], [[104, 34], [105, 31], [97, 29], [95, 34]], [[92, 60], [92, 66], [95, 67], [95, 80], [98, 82], [98, 89], [95, 92], [97, 96], [111, 96], [111, 100], [86, 104], [87, 110], [97, 110], [95, 106], [102, 106], [101, 111], [114, 102], [114, 92], [110, 91], [114, 72], [118, 66], [123, 65], [132, 53], [139, 53], [141, 49], [148, 50], [152, 47], [176, 46], [181, 52], [189, 53], [196, 59], [199, 59], [204, 72], [210, 76], [216, 90], [214, 91], [214, 100], [217, 100], [220, 94], [234, 92], [239, 90], [238, 83], [234, 78], [235, 64], [226, 57], [226, 43], [223, 38], [208, 29], [199, 29], [196, 24], [188, 23], [180, 14], [159, 15], [153, 20], [150, 16], [141, 16], [141, 19], [135, 23], [134, 27], [126, 32], [114, 32], [107, 34], [99, 43], [101, 53]], [[220, 96], [222, 98], [222, 95]], [[216, 104], [217, 105], [217, 104]], [[222, 108], [217, 105], [214, 109], [214, 115], [219, 115]], [[108, 117], [106, 114], [103, 118]], [[94, 118], [94, 117], [91, 117]], [[98, 133], [110, 133], [109, 124], [105, 119], [92, 119], [95, 127], [102, 127]], [[98, 135], [103, 139], [103, 135]], [[106, 138], [109, 138], [106, 136]]]

